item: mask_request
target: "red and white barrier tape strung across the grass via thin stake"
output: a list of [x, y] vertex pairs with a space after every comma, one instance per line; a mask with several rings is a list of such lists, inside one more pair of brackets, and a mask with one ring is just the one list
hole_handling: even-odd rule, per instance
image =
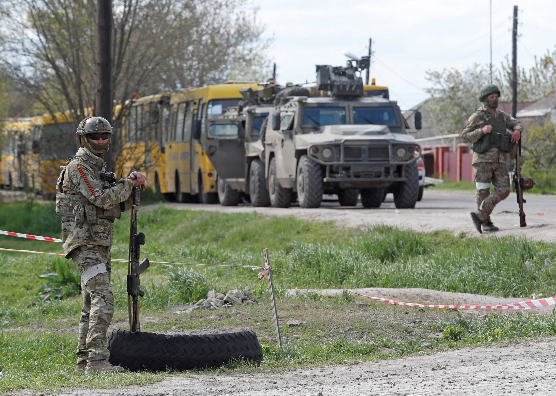
[[[57, 239], [57, 238], [40, 237], [38, 235], [21, 234], [21, 233], [17, 233], [17, 232], [9, 232], [9, 231], [3, 231], [3, 230], [0, 230], [0, 234], [10, 235], [12, 237], [45, 240], [47, 242], [62, 242], [61, 239]], [[36, 252], [34, 250], [6, 249], [6, 248], [0, 248], [0, 250], [4, 250], [4, 251], [7, 251], [7, 252], [49, 254], [49, 255], [57, 255], [57, 256], [64, 257], [64, 254], [61, 254], [61, 253], [45, 253], [45, 252]], [[126, 250], [126, 249], [117, 249], [117, 250]], [[163, 254], [163, 253], [148, 253], [148, 252], [142, 252], [142, 253], [166, 255], [166, 254]], [[186, 257], [186, 256], [177, 256], [177, 257], [193, 258], [193, 257]], [[127, 260], [125, 260], [125, 259], [113, 258], [112, 261], [127, 263]], [[215, 260], [209, 260], [209, 261], [215, 261]], [[214, 267], [239, 267], [239, 268], [260, 269], [261, 271], [257, 275], [259, 280], [261, 280], [262, 278], [265, 277], [267, 271], [271, 270], [269, 264], [266, 264], [265, 267], [257, 267], [256, 265], [241, 265], [241, 264], [234, 264], [234, 263], [227, 263], [227, 265], [226, 264], [200, 264], [200, 263], [171, 263], [171, 262], [164, 262], [164, 261], [151, 261], [151, 263], [154, 263], [154, 264], [205, 265], [205, 266], [214, 266]], [[224, 263], [224, 262], [219, 262], [219, 263]], [[330, 286], [330, 287], [333, 287], [333, 288], [336, 288], [336, 289], [339, 289], [339, 290], [344, 290], [345, 292], [348, 292], [348, 293], [353, 293], [355, 295], [359, 295], [360, 297], [370, 298], [370, 299], [380, 301], [380, 302], [383, 302], [383, 303], [388, 303], [388, 304], [403, 305], [405, 307], [446, 308], [446, 309], [531, 309], [531, 308], [542, 308], [542, 307], [547, 307], [548, 305], [555, 305], [556, 304], [556, 296], [548, 297], [548, 298], [542, 298], [542, 299], [538, 299], [538, 300], [524, 300], [524, 301], [520, 301], [520, 302], [517, 302], [517, 303], [499, 304], [499, 305], [441, 305], [441, 304], [404, 303], [404, 302], [401, 302], [401, 301], [395, 301], [395, 300], [391, 300], [391, 299], [388, 299], [388, 298], [373, 297], [372, 295], [365, 295], [365, 294], [353, 292], [352, 290], [342, 289], [340, 287], [331, 285], [329, 283], [320, 282], [319, 280], [301, 277], [300, 275], [289, 274], [287, 272], [283, 272], [283, 271], [276, 270], [276, 269], [274, 269], [274, 271], [280, 272], [280, 273], [285, 274], [285, 275], [290, 275], [292, 277], [307, 279], [307, 280], [311, 280], [312, 282], [325, 284], [327, 286]]]

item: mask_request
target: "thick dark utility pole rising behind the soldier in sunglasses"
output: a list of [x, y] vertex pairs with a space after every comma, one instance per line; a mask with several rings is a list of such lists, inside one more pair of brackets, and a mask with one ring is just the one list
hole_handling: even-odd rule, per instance
[[[97, 94], [95, 115], [112, 124], [112, 0], [97, 0]], [[113, 145], [115, 146], [115, 145]], [[105, 161], [113, 168], [113, 149]]]

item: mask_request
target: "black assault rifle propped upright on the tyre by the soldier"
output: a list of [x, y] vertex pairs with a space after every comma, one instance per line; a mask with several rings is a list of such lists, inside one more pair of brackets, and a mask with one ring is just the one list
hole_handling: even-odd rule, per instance
[[141, 331], [139, 323], [139, 297], [145, 292], [139, 287], [139, 275], [149, 267], [148, 258], [139, 262], [140, 245], [145, 244], [145, 234], [137, 233], [137, 209], [141, 201], [141, 186], [133, 187], [133, 205], [131, 206], [130, 254], [127, 264], [127, 313], [132, 333]]

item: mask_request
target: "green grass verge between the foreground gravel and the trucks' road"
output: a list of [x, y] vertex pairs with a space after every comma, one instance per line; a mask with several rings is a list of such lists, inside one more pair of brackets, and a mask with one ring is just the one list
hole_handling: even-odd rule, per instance
[[[52, 203], [0, 203], [0, 229], [59, 237], [60, 219]], [[256, 213], [222, 214], [172, 210], [162, 205], [141, 210], [138, 229], [145, 232], [144, 249], [175, 255], [263, 265], [262, 249], [269, 248], [272, 268], [339, 287], [423, 287], [451, 292], [529, 298], [533, 293], [554, 295], [556, 246], [525, 238], [475, 238], [449, 232], [418, 233], [386, 226], [346, 229], [331, 222], [264, 217]], [[115, 247], [127, 248], [129, 218], [115, 223]], [[61, 252], [57, 243], [0, 236], [0, 247]], [[168, 373], [99, 375], [85, 380], [72, 372], [80, 295], [38, 303], [47, 282], [37, 275], [55, 272], [57, 260], [46, 255], [2, 252], [0, 261], [0, 390], [62, 386], [118, 387], [150, 382]], [[193, 259], [147, 256], [151, 261], [195, 263]], [[113, 250], [113, 257], [127, 258]], [[201, 262], [202, 263], [202, 262]], [[205, 262], [207, 263], [207, 262]], [[526, 264], [527, 263], [527, 264]], [[279, 317], [286, 348], [276, 350], [269, 313], [266, 279], [243, 268], [189, 267], [152, 263], [141, 276], [146, 290], [141, 302], [143, 330], [180, 331], [201, 328], [254, 329], [265, 344], [265, 360], [254, 365], [230, 363], [219, 370], [280, 370], [321, 364], [388, 358], [377, 348], [398, 348], [390, 356], [521, 338], [552, 336], [556, 319], [528, 314], [495, 314], [471, 319], [448, 310], [395, 307], [351, 295], [324, 298], [316, 294], [286, 297], [288, 288], [320, 288], [309, 280], [274, 273]], [[191, 273], [191, 270], [195, 273]], [[116, 297], [113, 327], [127, 327], [125, 263], [113, 263], [112, 289]], [[197, 299], [206, 290], [250, 285], [262, 305], [191, 314], [168, 313], [168, 304]], [[209, 318], [217, 315], [218, 319]], [[289, 319], [307, 320], [300, 328], [285, 326]], [[340, 332], [340, 330], [342, 332]], [[435, 334], [444, 332], [443, 336]], [[433, 348], [421, 346], [433, 343]], [[6, 351], [6, 358], [4, 358]], [[217, 370], [217, 371], [219, 371]], [[211, 371], [214, 372], [214, 371]], [[182, 375], [182, 374], [180, 374]]]

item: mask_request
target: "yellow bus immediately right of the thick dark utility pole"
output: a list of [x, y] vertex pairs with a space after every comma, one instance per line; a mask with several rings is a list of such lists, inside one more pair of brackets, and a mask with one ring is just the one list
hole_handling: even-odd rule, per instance
[[[131, 171], [147, 176], [147, 186], [168, 193], [165, 181], [165, 142], [163, 136], [170, 121], [171, 93], [137, 99], [123, 119], [123, 146], [116, 161], [116, 175], [126, 177]], [[120, 111], [120, 107], [115, 110]]]

